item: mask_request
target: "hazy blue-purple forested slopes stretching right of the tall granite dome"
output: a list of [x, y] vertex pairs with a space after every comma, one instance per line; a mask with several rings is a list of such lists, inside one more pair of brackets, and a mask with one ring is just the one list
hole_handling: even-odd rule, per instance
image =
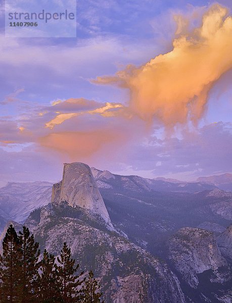
[[120, 176], [95, 168], [92, 173], [112, 222], [153, 254], [163, 254], [163, 241], [181, 227], [203, 224], [224, 230], [231, 223], [232, 193], [215, 185]]

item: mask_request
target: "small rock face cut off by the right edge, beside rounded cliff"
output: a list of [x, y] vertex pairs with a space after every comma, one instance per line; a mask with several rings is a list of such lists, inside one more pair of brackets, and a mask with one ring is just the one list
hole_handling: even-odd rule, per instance
[[217, 237], [217, 244], [221, 254], [232, 260], [232, 224], [230, 224], [226, 230]]

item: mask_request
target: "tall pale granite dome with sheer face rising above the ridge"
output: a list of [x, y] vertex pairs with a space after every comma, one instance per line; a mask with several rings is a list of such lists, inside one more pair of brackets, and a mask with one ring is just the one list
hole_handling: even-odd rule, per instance
[[80, 162], [65, 163], [63, 179], [54, 184], [52, 203], [67, 201], [72, 208], [80, 207], [100, 216], [112, 227], [103, 198], [88, 165]]

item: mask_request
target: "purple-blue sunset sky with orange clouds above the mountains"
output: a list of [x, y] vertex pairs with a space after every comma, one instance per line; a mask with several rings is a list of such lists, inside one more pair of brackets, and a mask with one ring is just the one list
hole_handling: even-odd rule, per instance
[[77, 1], [74, 38], [5, 37], [3, 5], [0, 186], [56, 182], [66, 162], [232, 172], [231, 1]]

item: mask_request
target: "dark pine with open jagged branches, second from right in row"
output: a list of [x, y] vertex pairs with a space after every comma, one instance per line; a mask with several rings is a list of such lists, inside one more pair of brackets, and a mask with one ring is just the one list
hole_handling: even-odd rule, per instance
[[75, 273], [79, 268], [79, 264], [75, 266], [75, 260], [71, 258], [71, 249], [68, 248], [66, 242], [61, 250], [60, 258], [57, 258], [59, 266], [56, 266], [59, 280], [61, 282], [61, 294], [64, 303], [78, 301], [78, 286], [82, 284], [79, 280], [83, 272], [76, 276]]

